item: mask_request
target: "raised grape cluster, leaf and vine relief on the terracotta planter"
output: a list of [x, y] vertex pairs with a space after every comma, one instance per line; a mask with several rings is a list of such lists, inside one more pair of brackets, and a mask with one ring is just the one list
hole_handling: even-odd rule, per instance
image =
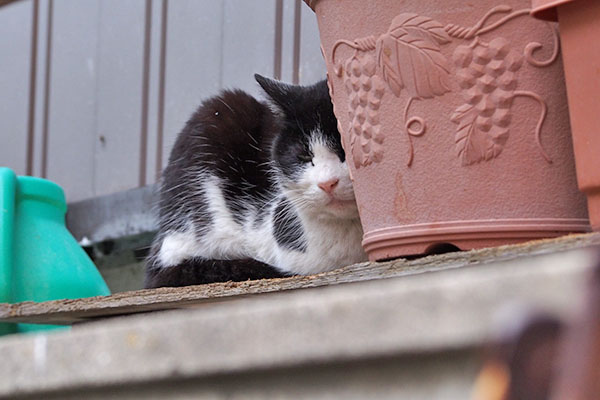
[[[503, 16], [489, 22], [492, 16], [499, 14]], [[407, 165], [410, 166], [414, 158], [412, 138], [425, 134], [427, 128], [423, 118], [409, 117], [410, 106], [414, 101], [450, 92], [452, 79], [464, 100], [450, 117], [457, 124], [454, 141], [462, 165], [488, 161], [502, 152], [510, 134], [510, 108], [518, 96], [539, 103], [540, 116], [534, 137], [542, 156], [551, 162], [540, 139], [546, 103], [536, 93], [517, 88], [518, 71], [524, 62], [544, 67], [558, 57], [555, 29], [551, 27], [554, 49], [547, 60], [533, 56], [542, 47], [540, 43], [527, 44], [521, 53], [505, 38], [496, 37], [486, 42], [480, 36], [527, 14], [527, 9], [513, 12], [509, 6], [497, 6], [474, 26], [462, 27], [444, 26], [425, 16], [403, 13], [378, 37], [337, 41], [332, 50], [332, 63], [348, 95], [350, 123], [346, 140], [349, 139], [354, 166], [368, 166], [384, 157], [385, 135], [379, 123], [379, 108], [389, 92], [397, 97], [403, 92], [408, 94], [401, 116], [403, 133], [408, 138]], [[466, 43], [456, 46], [452, 60], [448, 60], [441, 47], [455, 40]], [[342, 45], [351, 47], [354, 52], [349, 58], [336, 61], [336, 50]]]

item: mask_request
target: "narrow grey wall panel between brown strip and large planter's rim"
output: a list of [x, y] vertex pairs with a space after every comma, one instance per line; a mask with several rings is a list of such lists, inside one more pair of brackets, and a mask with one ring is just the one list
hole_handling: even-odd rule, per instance
[[302, 5], [300, 32], [300, 83], [314, 83], [325, 78], [327, 70], [321, 55], [317, 17], [306, 4]]

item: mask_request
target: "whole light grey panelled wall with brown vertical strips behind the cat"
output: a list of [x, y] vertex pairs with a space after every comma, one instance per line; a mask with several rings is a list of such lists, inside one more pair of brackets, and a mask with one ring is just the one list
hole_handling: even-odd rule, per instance
[[68, 201], [156, 181], [199, 102], [258, 72], [325, 76], [300, 0], [21, 0], [0, 8], [0, 165]]

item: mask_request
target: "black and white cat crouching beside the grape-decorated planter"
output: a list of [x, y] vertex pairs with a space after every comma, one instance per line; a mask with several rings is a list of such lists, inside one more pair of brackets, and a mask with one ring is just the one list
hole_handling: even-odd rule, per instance
[[146, 287], [309, 275], [366, 260], [326, 81], [255, 78], [270, 105], [223, 91], [179, 134]]

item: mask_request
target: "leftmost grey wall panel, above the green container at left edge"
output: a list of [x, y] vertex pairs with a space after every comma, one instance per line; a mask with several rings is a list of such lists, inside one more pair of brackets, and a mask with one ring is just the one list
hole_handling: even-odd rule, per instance
[[31, 0], [0, 10], [0, 166], [26, 171]]

